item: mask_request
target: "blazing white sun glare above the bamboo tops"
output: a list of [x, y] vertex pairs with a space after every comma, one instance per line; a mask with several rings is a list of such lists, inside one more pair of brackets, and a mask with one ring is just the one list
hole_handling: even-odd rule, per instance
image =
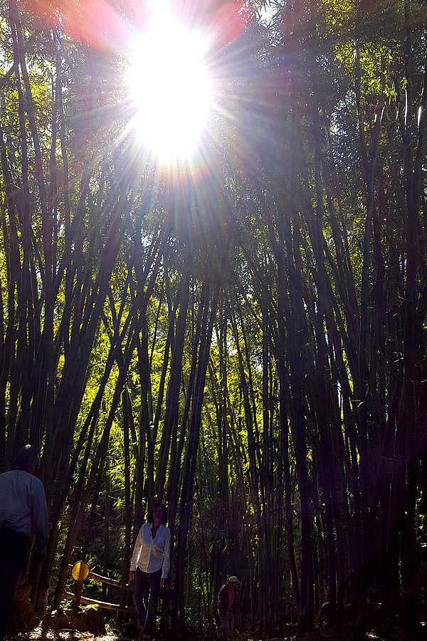
[[195, 32], [163, 11], [139, 36], [130, 68], [134, 125], [161, 160], [197, 150], [211, 110], [206, 46]]

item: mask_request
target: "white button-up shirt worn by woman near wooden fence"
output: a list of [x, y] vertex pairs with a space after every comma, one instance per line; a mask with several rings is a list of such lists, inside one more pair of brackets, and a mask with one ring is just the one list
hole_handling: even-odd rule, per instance
[[167, 526], [160, 525], [152, 538], [152, 523], [144, 523], [135, 541], [130, 570], [135, 572], [138, 567], [142, 572], [152, 574], [162, 568], [162, 578], [167, 578], [171, 565], [170, 547], [171, 531]]

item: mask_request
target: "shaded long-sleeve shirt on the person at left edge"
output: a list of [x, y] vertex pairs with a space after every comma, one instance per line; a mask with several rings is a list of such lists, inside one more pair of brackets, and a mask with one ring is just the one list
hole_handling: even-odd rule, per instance
[[49, 538], [48, 508], [43, 483], [24, 469], [0, 474], [0, 528], [31, 536], [46, 553]]

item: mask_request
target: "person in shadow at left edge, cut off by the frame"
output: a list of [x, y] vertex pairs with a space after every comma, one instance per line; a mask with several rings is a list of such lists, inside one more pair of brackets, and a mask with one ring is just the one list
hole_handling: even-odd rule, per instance
[[16, 455], [18, 469], [0, 474], [0, 640], [32, 531], [36, 533], [38, 554], [46, 557], [48, 509], [43, 483], [33, 476], [37, 463], [36, 447], [24, 445]]

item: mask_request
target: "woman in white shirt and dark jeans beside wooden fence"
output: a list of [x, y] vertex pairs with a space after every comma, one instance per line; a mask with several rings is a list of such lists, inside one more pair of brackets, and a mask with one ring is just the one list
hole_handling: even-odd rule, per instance
[[149, 639], [156, 629], [160, 585], [169, 574], [171, 532], [166, 523], [164, 504], [154, 505], [147, 523], [139, 530], [130, 562], [129, 578], [135, 580], [134, 601], [141, 627], [140, 641]]

